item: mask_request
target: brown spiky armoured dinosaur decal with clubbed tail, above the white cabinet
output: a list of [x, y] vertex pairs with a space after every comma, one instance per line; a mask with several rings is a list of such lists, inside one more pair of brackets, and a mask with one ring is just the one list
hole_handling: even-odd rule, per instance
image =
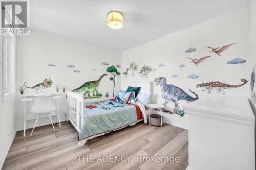
[[238, 87], [245, 85], [248, 82], [245, 79], [241, 79], [241, 81], [243, 83], [240, 85], [230, 85], [230, 84], [225, 84], [225, 83], [218, 82], [218, 81], [217, 82], [200, 83], [197, 85], [197, 88], [204, 87], [203, 91], [208, 90], [208, 93], [210, 93], [212, 90], [216, 89], [217, 93], [222, 92], [222, 94], [225, 94], [226, 92], [224, 91], [224, 89], [238, 88]]

